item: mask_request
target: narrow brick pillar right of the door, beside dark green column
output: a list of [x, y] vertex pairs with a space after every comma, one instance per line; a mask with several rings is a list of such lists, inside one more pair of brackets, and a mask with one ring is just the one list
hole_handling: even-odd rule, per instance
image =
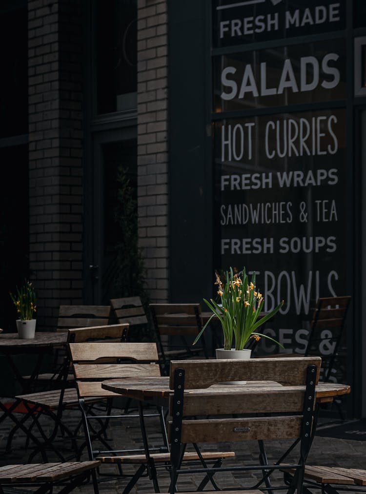
[[139, 243], [153, 301], [169, 299], [167, 2], [138, 0]]

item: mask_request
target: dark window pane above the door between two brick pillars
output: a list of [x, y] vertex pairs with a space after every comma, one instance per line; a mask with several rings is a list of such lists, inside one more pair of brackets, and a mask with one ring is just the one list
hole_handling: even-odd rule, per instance
[[97, 113], [136, 108], [136, 0], [96, 2]]

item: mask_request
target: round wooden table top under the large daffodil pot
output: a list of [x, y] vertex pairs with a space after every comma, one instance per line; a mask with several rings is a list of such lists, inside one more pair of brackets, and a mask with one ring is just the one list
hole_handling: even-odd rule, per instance
[[[168, 400], [173, 390], [169, 389], [169, 377], [141, 377], [129, 379], [109, 379], [102, 382], [102, 388], [127, 398], [140, 401]], [[303, 386], [283, 386], [275, 381], [247, 381], [246, 384], [214, 384], [207, 389], [185, 390], [187, 394], [209, 396], [219, 394], [232, 395], [234, 392], [252, 394], [253, 392], [291, 392], [305, 389]], [[316, 387], [318, 403], [332, 401], [336, 396], [348, 394], [351, 386], [332, 382], [319, 382]]]

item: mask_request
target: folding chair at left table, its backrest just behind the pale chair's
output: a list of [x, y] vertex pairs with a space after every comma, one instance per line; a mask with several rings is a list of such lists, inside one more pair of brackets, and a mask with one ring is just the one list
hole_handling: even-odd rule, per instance
[[[90, 328], [77, 328], [68, 330], [68, 341], [90, 341], [97, 340], [99, 346], [101, 343], [105, 344], [105, 341], [113, 338], [115, 340], [118, 338], [120, 341], [125, 337], [126, 329], [128, 329], [127, 324], [116, 324], [107, 326], [92, 326]], [[78, 447], [76, 444], [75, 435], [80, 429], [81, 423], [78, 425], [75, 431], [70, 430], [70, 428], [63, 420], [64, 411], [67, 409], [78, 409], [79, 401], [78, 394], [75, 388], [75, 381], [70, 382], [68, 380], [70, 369], [70, 360], [68, 357], [65, 358], [63, 367], [59, 371], [56, 377], [60, 386], [59, 389], [52, 389], [49, 391], [41, 391], [39, 393], [30, 393], [25, 395], [18, 395], [15, 397], [15, 402], [13, 408], [7, 410], [8, 416], [15, 422], [13, 429], [10, 431], [8, 436], [6, 451], [10, 451], [11, 443], [15, 432], [19, 429], [23, 430], [27, 434], [27, 442], [29, 438], [35, 444], [35, 448], [29, 457], [29, 461], [40, 453], [43, 461], [47, 461], [46, 449], [50, 448], [61, 461], [65, 461], [64, 456], [57, 450], [54, 439], [57, 436], [59, 429], [68, 436], [71, 440], [73, 450], [75, 455], [78, 454]], [[96, 404], [104, 401], [106, 406], [108, 403], [106, 400], [101, 398], [90, 397], [88, 403]], [[16, 417], [17, 411], [23, 406], [25, 409], [24, 416], [19, 420]], [[53, 421], [54, 427], [50, 435], [46, 435], [41, 423], [40, 418], [42, 416], [47, 416]], [[25, 422], [28, 419], [32, 419], [32, 422], [27, 428], [25, 428]], [[41, 434], [41, 439], [37, 438], [33, 433], [33, 429], [36, 428]]]

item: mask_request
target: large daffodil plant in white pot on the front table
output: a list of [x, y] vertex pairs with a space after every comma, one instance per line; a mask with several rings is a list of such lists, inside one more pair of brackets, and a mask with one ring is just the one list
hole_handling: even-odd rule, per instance
[[[203, 326], [194, 344], [198, 341], [211, 319], [217, 318], [221, 323], [224, 336], [224, 348], [216, 350], [217, 358], [250, 358], [251, 350], [246, 349], [245, 346], [251, 338], [257, 341], [261, 337], [268, 338], [283, 348], [278, 341], [266, 334], [258, 332], [258, 328], [280, 310], [284, 301], [263, 315], [261, 311], [263, 309], [264, 299], [255, 286], [255, 272], [251, 275], [250, 281], [245, 268], [243, 268], [241, 273], [234, 273], [233, 268], [230, 268], [225, 273], [224, 281], [221, 280], [217, 272], [215, 275], [218, 297], [216, 300], [212, 298], [210, 300], [203, 299], [212, 311], [212, 316]], [[235, 347], [233, 348], [234, 339]], [[238, 355], [234, 350], [241, 353]]]

